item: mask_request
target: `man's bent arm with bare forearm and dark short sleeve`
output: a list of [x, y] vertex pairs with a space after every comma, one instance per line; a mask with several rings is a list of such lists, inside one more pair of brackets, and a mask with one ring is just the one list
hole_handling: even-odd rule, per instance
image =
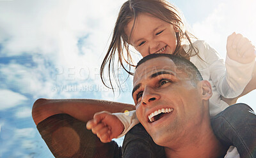
[[101, 143], [86, 129], [88, 120], [102, 110], [134, 110], [131, 104], [92, 99], [38, 99], [32, 110], [36, 127], [54, 157], [120, 158], [115, 141]]

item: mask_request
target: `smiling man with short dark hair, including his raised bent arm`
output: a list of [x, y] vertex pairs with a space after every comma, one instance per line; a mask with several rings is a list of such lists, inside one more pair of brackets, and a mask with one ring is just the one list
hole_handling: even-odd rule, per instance
[[[138, 64], [139, 66], [134, 76], [132, 96], [136, 104], [136, 114], [141, 124], [143, 124], [158, 145], [164, 146], [167, 157], [221, 157], [225, 155], [227, 149], [220, 144], [211, 129], [208, 101], [209, 97], [211, 97], [211, 85], [209, 82], [198, 80], [198, 78], [200, 79], [200, 73], [198, 75], [198, 72], [193, 66], [182, 69], [180, 65], [176, 65], [178, 62], [175, 63], [175, 59], [172, 60], [168, 57], [149, 59], [153, 56], [148, 55], [148, 57], [143, 59], [142, 63], [140, 62]], [[146, 59], [148, 61], [145, 61]], [[179, 61], [179, 58], [176, 60]], [[90, 100], [86, 101], [90, 102]], [[91, 106], [84, 107], [83, 102], [84, 100], [72, 100], [73, 108], [67, 108], [70, 104], [68, 101], [65, 103], [63, 100], [47, 101], [40, 99], [34, 104], [33, 118], [36, 124], [40, 122], [38, 124], [40, 126], [38, 130], [52, 153], [56, 157], [120, 156], [120, 153], [118, 153], [120, 150], [116, 149], [116, 145], [109, 143], [107, 143], [109, 146], [103, 146], [102, 144], [92, 145], [91, 148], [87, 148], [86, 146], [87, 151], [84, 150], [84, 144], [81, 145], [81, 143], [87, 141], [83, 140], [83, 138], [88, 138], [88, 134], [86, 136], [83, 135], [84, 129], [72, 130], [72, 127], [63, 128], [60, 126], [53, 131], [44, 130], [44, 128], [52, 124], [52, 122], [47, 122], [46, 118], [49, 117], [51, 119], [52, 115], [54, 117], [58, 113], [67, 113], [76, 119], [86, 122], [92, 116], [86, 116], [81, 111], [87, 110], [88, 113], [95, 113], [96, 111], [106, 110], [106, 108], [97, 106], [97, 104], [94, 104], [93, 108], [90, 108], [92, 104]], [[124, 109], [127, 109], [125, 108], [126, 106], [129, 105], [121, 104], [119, 108], [115, 106], [115, 110], [111, 112], [124, 111]], [[46, 110], [47, 108], [49, 108], [48, 111]], [[132, 110], [132, 107], [130, 109]], [[163, 112], [166, 109], [167, 112]], [[161, 111], [158, 113], [159, 110]], [[65, 119], [66, 117], [57, 119], [60, 121], [63, 118]], [[85, 127], [83, 122], [81, 124], [79, 123], [79, 126]], [[72, 126], [72, 123], [69, 121], [68, 126]], [[58, 126], [58, 122], [54, 126]], [[66, 135], [63, 137], [58, 136], [58, 134], [61, 134], [60, 132], [56, 132], [60, 131], [59, 129], [63, 129]], [[44, 131], [47, 131], [47, 134], [51, 136], [45, 136]], [[71, 139], [62, 141], [67, 137]], [[54, 146], [56, 140], [61, 140], [61, 143]], [[74, 141], [78, 141], [79, 143], [74, 143]], [[88, 144], [88, 142], [86, 143]], [[66, 146], [60, 147], [62, 144]], [[99, 144], [99, 142], [96, 144]], [[68, 148], [70, 145], [72, 145], [71, 149]], [[99, 149], [99, 146], [102, 148]], [[68, 151], [63, 150], [63, 148]], [[94, 155], [89, 154], [88, 156], [89, 150], [93, 150]], [[111, 152], [106, 152], [106, 150]], [[79, 152], [83, 151], [87, 153], [79, 154]], [[102, 155], [99, 155], [100, 153]]]

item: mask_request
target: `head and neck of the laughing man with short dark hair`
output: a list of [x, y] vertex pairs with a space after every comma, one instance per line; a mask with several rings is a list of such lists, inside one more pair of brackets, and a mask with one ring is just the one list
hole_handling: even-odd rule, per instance
[[154, 54], [138, 63], [132, 91], [138, 119], [166, 157], [223, 157], [227, 150], [209, 116], [211, 84], [185, 59], [166, 56], [173, 60]]

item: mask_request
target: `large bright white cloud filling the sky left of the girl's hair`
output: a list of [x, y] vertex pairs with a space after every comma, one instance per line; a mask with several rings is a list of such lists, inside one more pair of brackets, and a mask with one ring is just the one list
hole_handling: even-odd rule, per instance
[[[22, 84], [17, 87], [20, 92], [32, 94], [35, 99], [76, 97], [79, 94], [52, 90], [59, 83], [102, 85], [99, 68], [122, 3], [124, 1], [121, 0], [36, 3], [26, 0], [3, 3], [0, 6], [0, 33], [3, 32], [0, 37], [0, 43], [2, 41], [3, 44], [1, 54], [32, 54], [33, 62], [38, 64], [36, 68], [17, 63], [4, 66], [1, 71], [8, 78], [6, 81], [17, 83], [19, 74], [19, 83]], [[36, 57], [35, 53], [42, 57]], [[63, 70], [57, 80], [52, 80], [50, 74], [55, 69], [45, 66], [47, 60], [55, 68]], [[15, 71], [16, 69], [22, 69], [23, 73]], [[81, 69], [86, 71], [80, 71]], [[69, 80], [68, 75], [72, 76], [72, 71], [75, 71], [74, 80]], [[83, 78], [81, 75], [88, 76], [88, 80], [80, 80]]]

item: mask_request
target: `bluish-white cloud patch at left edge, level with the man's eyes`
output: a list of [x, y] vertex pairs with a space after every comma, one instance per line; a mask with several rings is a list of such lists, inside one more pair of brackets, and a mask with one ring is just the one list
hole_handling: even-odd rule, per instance
[[53, 96], [54, 92], [51, 90], [53, 81], [49, 76], [51, 69], [44, 66], [44, 61], [37, 62], [39, 63], [35, 68], [17, 64], [16, 62], [6, 66], [2, 65], [0, 73], [4, 76], [5, 86], [13, 87], [21, 94]]

